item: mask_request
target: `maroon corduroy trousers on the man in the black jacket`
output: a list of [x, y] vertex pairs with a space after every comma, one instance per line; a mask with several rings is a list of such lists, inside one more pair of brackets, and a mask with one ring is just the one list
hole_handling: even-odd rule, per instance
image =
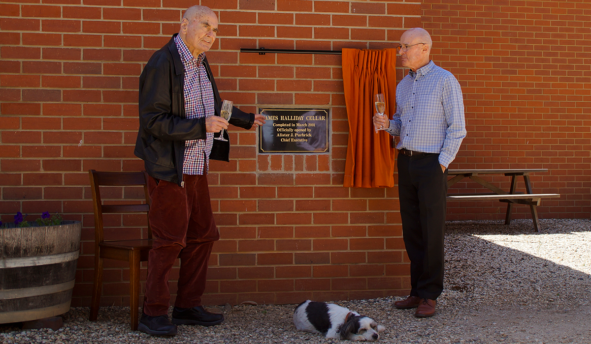
[[207, 264], [219, 232], [213, 219], [207, 175], [183, 175], [184, 188], [150, 177], [150, 226], [154, 245], [148, 257], [144, 313], [168, 314], [168, 277], [177, 257], [177, 307], [201, 305]]

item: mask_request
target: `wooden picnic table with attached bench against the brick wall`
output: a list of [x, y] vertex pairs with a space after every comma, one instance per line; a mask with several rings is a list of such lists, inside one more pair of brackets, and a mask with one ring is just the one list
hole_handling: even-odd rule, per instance
[[[531, 209], [531, 217], [534, 221], [534, 229], [540, 232], [540, 221], [538, 220], [538, 211], [536, 207], [540, 205], [542, 198], [556, 198], [560, 194], [534, 194], [531, 188], [530, 173], [548, 172], [548, 169], [450, 169], [447, 171], [448, 176], [452, 176], [447, 181], [448, 188], [464, 178], [470, 178], [478, 184], [484, 186], [489, 191], [486, 193], [474, 194], [447, 194], [448, 201], [485, 201], [498, 200], [507, 203], [507, 211], [505, 214], [505, 224], [511, 223], [511, 211], [514, 204], [529, 205]], [[505, 175], [511, 176], [511, 187], [508, 191], [492, 185], [490, 182], [481, 178], [482, 175]], [[525, 183], [525, 193], [516, 192], [517, 177], [523, 176]]]

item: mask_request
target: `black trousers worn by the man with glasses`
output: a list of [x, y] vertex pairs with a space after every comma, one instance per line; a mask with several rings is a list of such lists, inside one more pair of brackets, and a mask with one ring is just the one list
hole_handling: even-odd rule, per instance
[[410, 258], [411, 296], [436, 300], [443, 291], [447, 169], [439, 154], [398, 155], [402, 236]]

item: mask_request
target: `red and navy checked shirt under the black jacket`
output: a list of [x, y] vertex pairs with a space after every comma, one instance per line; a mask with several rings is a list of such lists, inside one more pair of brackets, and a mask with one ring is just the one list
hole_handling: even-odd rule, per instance
[[[174, 38], [178, 53], [181, 55], [184, 76], [184, 105], [187, 118], [213, 116], [213, 89], [203, 64], [205, 53], [197, 58], [191, 54], [180, 36]], [[209, 153], [212, 152], [213, 133], [207, 133], [205, 140], [186, 140], [183, 162], [183, 173], [187, 175], [203, 175], [209, 169]]]

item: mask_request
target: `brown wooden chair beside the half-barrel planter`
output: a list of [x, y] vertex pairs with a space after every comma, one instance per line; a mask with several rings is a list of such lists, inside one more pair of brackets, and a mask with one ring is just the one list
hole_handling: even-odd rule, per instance
[[[148, 221], [148, 238], [135, 240], [106, 241], [103, 232], [103, 214], [107, 213], [144, 213], [148, 217], [150, 198], [148, 196], [148, 175], [145, 172], [97, 172], [88, 171], [92, 201], [95, 208], [95, 281], [92, 290], [92, 304], [89, 319], [96, 320], [99, 313], [100, 294], [102, 291], [103, 260], [115, 259], [129, 262], [129, 307], [131, 313], [131, 329], [138, 328], [138, 297], [139, 297], [139, 266], [141, 261], [148, 260], [152, 248], [152, 231]], [[125, 199], [113, 205], [103, 205], [100, 199], [99, 186], [144, 186], [145, 203]], [[125, 203], [126, 202], [126, 203]], [[115, 203], [115, 202], [113, 202]]]

